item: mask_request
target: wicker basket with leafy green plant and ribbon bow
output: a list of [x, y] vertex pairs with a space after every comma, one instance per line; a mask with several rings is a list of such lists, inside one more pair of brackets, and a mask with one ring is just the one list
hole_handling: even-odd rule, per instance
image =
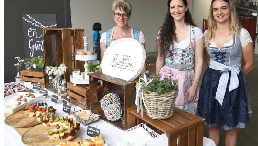
[[143, 117], [143, 106], [146, 108], [147, 115], [152, 119], [166, 119], [173, 114], [175, 99], [178, 94], [178, 81], [169, 78], [161, 78], [161, 75], [152, 75], [147, 78], [146, 75], [139, 78], [136, 83], [137, 112], [141, 109]]

